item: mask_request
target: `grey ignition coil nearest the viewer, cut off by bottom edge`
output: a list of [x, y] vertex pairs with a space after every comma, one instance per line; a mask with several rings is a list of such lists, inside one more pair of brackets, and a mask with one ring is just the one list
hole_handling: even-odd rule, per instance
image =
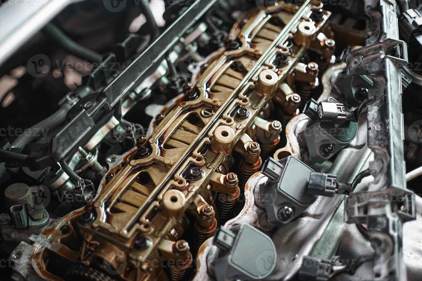
[[217, 281], [262, 280], [278, 265], [271, 238], [251, 225], [235, 225], [230, 230], [220, 227], [214, 245], [219, 248], [214, 262]]

